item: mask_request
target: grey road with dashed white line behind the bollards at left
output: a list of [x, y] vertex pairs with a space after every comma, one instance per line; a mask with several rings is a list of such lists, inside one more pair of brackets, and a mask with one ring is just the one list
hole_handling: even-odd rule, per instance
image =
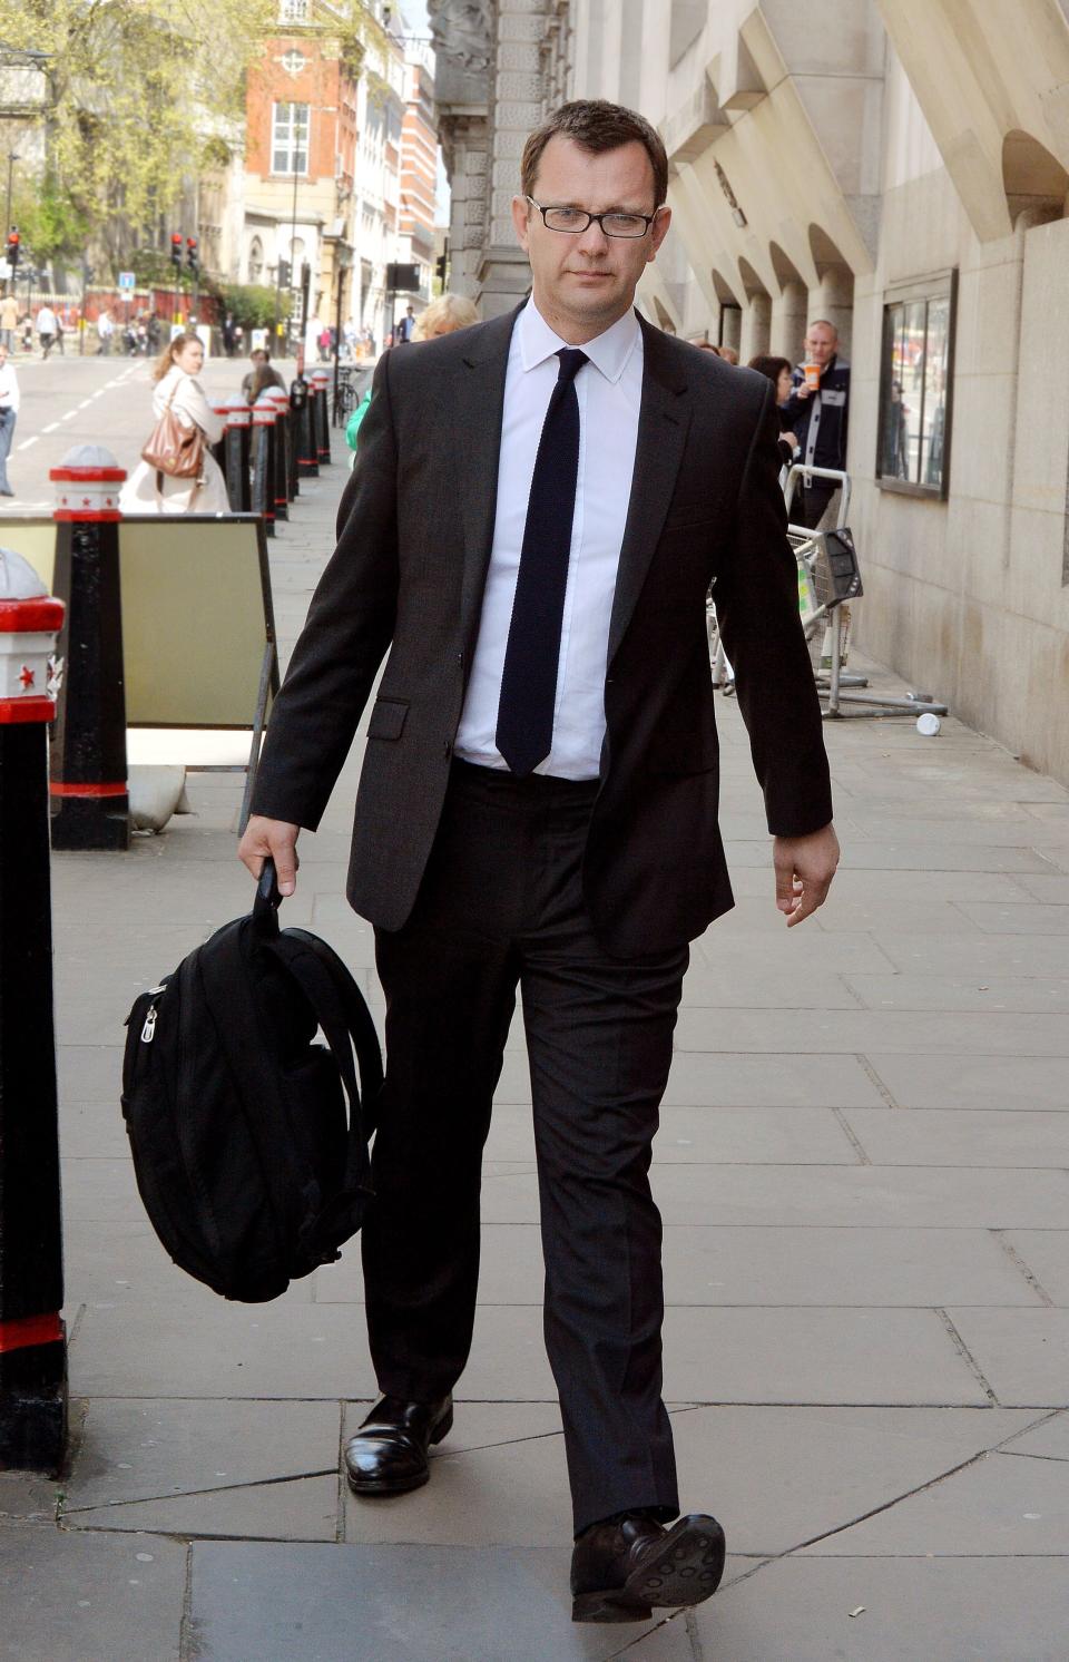
[[[133, 470], [151, 425], [151, 357], [78, 357], [68, 352], [12, 359], [18, 374], [22, 407], [8, 479], [15, 497], [8, 514], [47, 514], [53, 492], [48, 469], [57, 467], [76, 444], [103, 444], [121, 467]], [[293, 362], [279, 364], [289, 381]], [[201, 384], [209, 397], [234, 394], [248, 362], [209, 359]]]

